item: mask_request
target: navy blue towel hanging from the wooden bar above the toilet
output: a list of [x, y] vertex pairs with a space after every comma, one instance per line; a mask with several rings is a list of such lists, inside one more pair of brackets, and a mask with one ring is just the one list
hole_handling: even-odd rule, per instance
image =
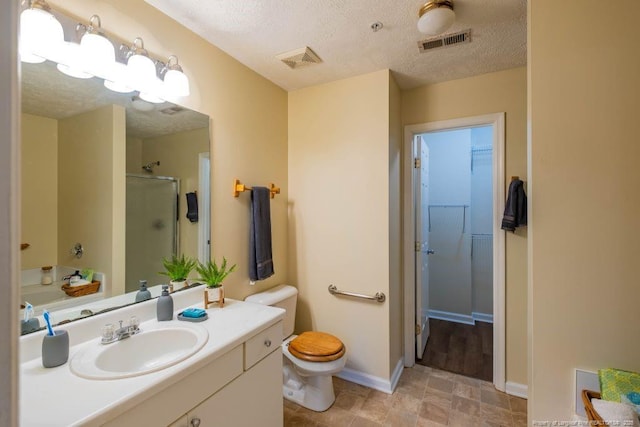
[[252, 281], [273, 276], [270, 196], [271, 192], [266, 187], [253, 187], [251, 190], [249, 279]]

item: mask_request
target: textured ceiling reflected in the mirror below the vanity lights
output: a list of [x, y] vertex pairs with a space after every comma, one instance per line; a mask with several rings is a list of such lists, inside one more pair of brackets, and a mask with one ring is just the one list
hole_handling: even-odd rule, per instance
[[174, 115], [160, 111], [174, 107], [165, 102], [154, 104], [152, 111], [133, 108], [133, 94], [121, 94], [106, 89], [102, 80], [74, 79], [56, 69], [52, 62], [21, 63], [22, 112], [52, 119], [64, 119], [92, 111], [105, 105], [126, 108], [127, 136], [152, 138], [192, 129], [209, 127], [209, 117], [184, 109]]

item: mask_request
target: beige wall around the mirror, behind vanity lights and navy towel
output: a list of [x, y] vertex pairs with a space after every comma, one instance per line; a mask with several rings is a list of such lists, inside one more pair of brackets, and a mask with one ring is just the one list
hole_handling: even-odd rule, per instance
[[[225, 281], [227, 295], [244, 296], [287, 281], [287, 94], [142, 1], [53, 0], [52, 7], [82, 22], [98, 14], [123, 40], [142, 37], [158, 58], [175, 54], [190, 78], [192, 95], [180, 101], [207, 114], [211, 126], [212, 253], [238, 264]], [[234, 199], [233, 180], [281, 188], [271, 202], [276, 274], [249, 286], [248, 193]]]

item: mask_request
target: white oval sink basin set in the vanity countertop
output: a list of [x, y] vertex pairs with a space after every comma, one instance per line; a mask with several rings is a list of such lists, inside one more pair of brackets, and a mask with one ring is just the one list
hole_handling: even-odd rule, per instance
[[200, 350], [209, 339], [202, 326], [177, 320], [148, 322], [142, 332], [112, 344], [91, 341], [69, 363], [71, 372], [88, 379], [135, 377], [173, 366]]

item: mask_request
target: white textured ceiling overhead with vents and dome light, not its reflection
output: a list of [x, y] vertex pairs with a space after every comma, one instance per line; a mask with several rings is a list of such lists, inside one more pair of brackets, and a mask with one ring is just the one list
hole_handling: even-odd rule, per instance
[[[286, 90], [384, 68], [410, 89], [526, 64], [526, 0], [454, 0], [447, 33], [470, 28], [471, 43], [427, 53], [416, 27], [425, 0], [145, 1]], [[291, 70], [276, 59], [305, 46], [323, 62]]]

